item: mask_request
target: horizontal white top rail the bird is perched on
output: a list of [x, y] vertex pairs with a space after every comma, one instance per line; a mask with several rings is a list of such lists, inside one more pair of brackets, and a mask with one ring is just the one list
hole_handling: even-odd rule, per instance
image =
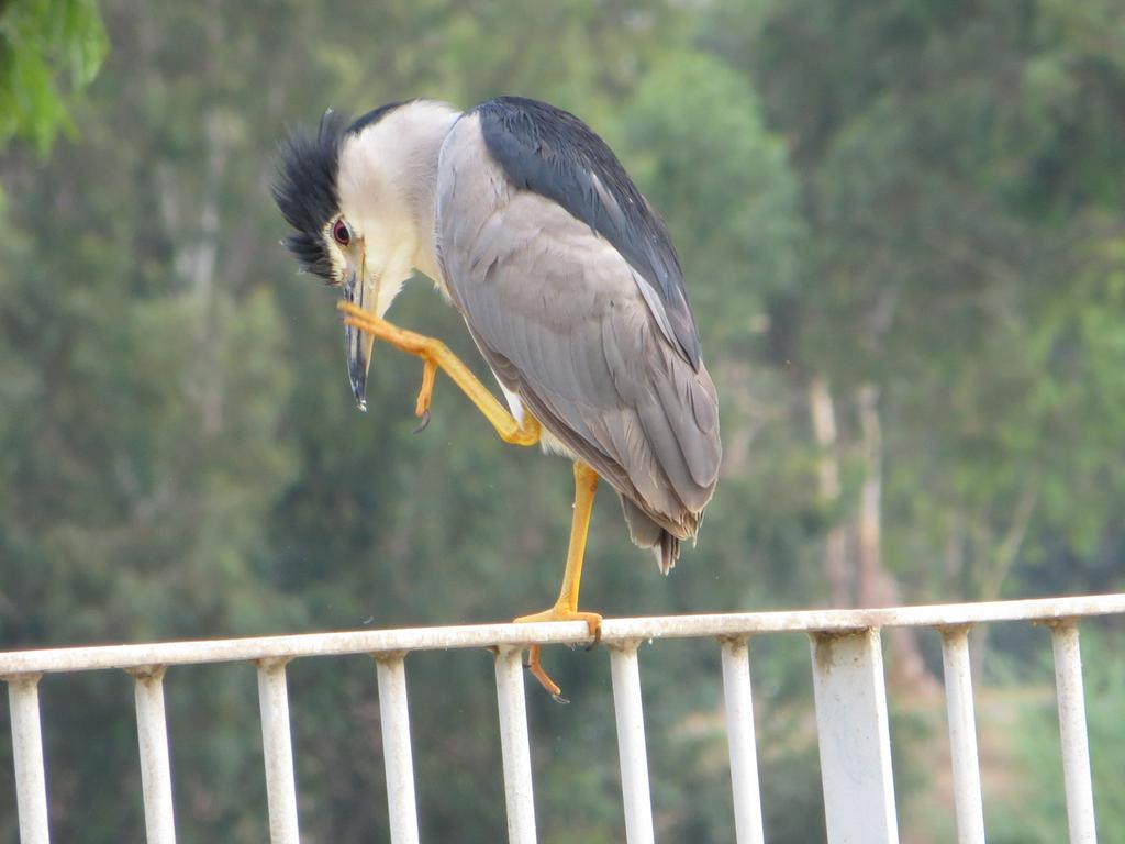
[[[1125, 613], [1125, 593], [1022, 601], [929, 604], [868, 610], [731, 612], [605, 619], [602, 641], [742, 637], [765, 632], [847, 632], [881, 627], [956, 627], [990, 621], [1052, 622], [1083, 616]], [[531, 625], [467, 625], [387, 630], [204, 639], [141, 645], [101, 645], [0, 653], [0, 677], [150, 665], [292, 659], [305, 656], [396, 654], [407, 650], [480, 648], [587, 640], [582, 621]]]

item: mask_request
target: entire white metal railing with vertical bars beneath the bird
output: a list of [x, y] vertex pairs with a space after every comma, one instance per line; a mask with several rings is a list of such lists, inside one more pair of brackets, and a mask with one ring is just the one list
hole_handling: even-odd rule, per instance
[[[804, 631], [811, 638], [828, 841], [830, 844], [898, 842], [880, 631], [885, 627], [930, 627], [942, 632], [957, 839], [972, 844], [983, 842], [969, 629], [978, 623], [1027, 620], [1048, 625], [1054, 644], [1070, 841], [1092, 844], [1096, 841], [1094, 791], [1078, 620], [1106, 614], [1125, 614], [1125, 594], [879, 610], [605, 619], [602, 641], [611, 650], [627, 839], [630, 844], [654, 841], [637, 658], [639, 644], [665, 638], [718, 639], [722, 654], [737, 841], [739, 844], [760, 844], [764, 837], [747, 641], [759, 634]], [[43, 674], [112, 668], [133, 674], [147, 841], [171, 844], [176, 841], [176, 827], [164, 719], [164, 672], [174, 665], [254, 663], [261, 703], [270, 839], [274, 844], [296, 844], [299, 839], [297, 790], [286, 664], [298, 657], [371, 654], [378, 666], [390, 838], [394, 844], [414, 844], [418, 841], [418, 827], [406, 700], [406, 654], [436, 648], [490, 647], [496, 655], [508, 841], [532, 844], [537, 833], [522, 652], [531, 643], [580, 643], [586, 638], [585, 622], [574, 621], [0, 653], [0, 679], [8, 683], [10, 701], [20, 841], [22, 844], [46, 844], [50, 839], [38, 700], [38, 680]]]

